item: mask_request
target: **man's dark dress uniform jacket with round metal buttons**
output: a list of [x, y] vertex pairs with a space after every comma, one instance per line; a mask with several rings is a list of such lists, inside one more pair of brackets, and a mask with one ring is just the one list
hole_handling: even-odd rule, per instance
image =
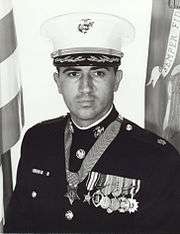
[[[92, 172], [98, 178], [119, 178], [119, 181], [129, 178], [124, 186], [127, 187], [125, 198], [132, 191], [128, 190], [131, 181], [140, 182], [134, 196], [136, 206], [108, 212], [98, 205], [101, 195], [97, 194], [103, 187], [98, 187], [97, 181], [90, 202], [86, 202], [87, 178], [79, 185], [80, 200], [69, 203], [64, 196], [67, 192], [64, 158], [67, 118], [42, 122], [25, 134], [5, 232], [179, 234], [179, 154], [164, 139], [125, 118], [117, 137]], [[112, 194], [107, 196], [112, 201]]]

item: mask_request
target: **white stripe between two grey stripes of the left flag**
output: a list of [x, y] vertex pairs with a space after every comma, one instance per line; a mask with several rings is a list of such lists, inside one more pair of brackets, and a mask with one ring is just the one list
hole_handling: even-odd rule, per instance
[[20, 68], [17, 49], [5, 61], [0, 63], [0, 108], [7, 105], [19, 92]]

